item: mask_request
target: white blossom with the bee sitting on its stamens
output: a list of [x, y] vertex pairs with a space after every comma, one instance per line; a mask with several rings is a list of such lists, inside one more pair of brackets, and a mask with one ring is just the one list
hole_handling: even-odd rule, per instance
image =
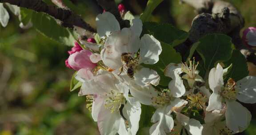
[[[105, 16], [105, 12], [101, 16]], [[107, 16], [113, 16], [110, 13]], [[116, 22], [108, 17], [108, 22]], [[105, 20], [100, 21], [102, 25]], [[111, 24], [111, 26], [114, 24]], [[119, 25], [119, 24], [118, 24]], [[104, 25], [108, 27], [108, 25]], [[156, 71], [145, 68], [140, 64], [156, 64], [162, 51], [160, 42], [153, 36], [145, 34], [140, 39], [142, 32], [142, 22], [140, 19], [133, 19], [130, 28], [107, 28], [101, 33], [107, 35], [104, 48], [101, 50], [101, 58], [103, 63], [112, 68], [115, 74], [121, 76], [129, 76], [128, 81], [134, 79], [135, 82], [142, 86], [149, 84], [158, 85], [160, 76]], [[111, 30], [111, 32], [110, 32]], [[100, 35], [100, 34], [99, 34]]]

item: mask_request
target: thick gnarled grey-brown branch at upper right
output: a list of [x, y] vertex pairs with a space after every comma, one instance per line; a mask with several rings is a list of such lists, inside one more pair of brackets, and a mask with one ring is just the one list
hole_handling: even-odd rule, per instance
[[181, 44], [176, 47], [177, 51], [184, 54], [188, 46], [197, 42], [202, 36], [209, 33], [223, 33], [231, 36], [236, 49], [239, 49], [249, 62], [256, 64], [255, 50], [246, 47], [240, 37], [240, 30], [244, 27], [244, 18], [232, 4], [222, 0], [180, 1], [191, 5], [200, 14], [192, 22], [189, 42], [187, 42], [190, 44]]

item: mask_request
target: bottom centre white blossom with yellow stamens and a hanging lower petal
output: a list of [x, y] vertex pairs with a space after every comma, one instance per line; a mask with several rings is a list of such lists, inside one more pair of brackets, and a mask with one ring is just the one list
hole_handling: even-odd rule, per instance
[[173, 98], [164, 92], [152, 97], [152, 105], [157, 109], [151, 118], [151, 122], [154, 124], [150, 127], [150, 135], [166, 135], [166, 133], [171, 132], [174, 126], [171, 115], [172, 108], [182, 107], [186, 104], [186, 100]]

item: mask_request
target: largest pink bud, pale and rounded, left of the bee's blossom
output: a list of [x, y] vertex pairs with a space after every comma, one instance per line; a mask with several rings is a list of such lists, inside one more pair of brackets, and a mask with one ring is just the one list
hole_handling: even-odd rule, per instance
[[97, 64], [92, 63], [90, 60], [90, 56], [92, 52], [89, 50], [82, 50], [80, 52], [75, 52], [68, 57], [68, 64], [74, 70], [79, 70], [81, 68], [85, 68], [88, 70], [92, 70]]

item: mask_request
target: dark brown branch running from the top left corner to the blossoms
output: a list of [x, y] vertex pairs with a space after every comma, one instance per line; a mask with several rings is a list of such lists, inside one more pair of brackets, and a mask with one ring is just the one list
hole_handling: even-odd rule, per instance
[[[90, 37], [93, 35], [96, 30], [92, 28], [89, 24], [84, 22], [80, 16], [74, 14], [72, 11], [63, 8], [57, 8], [53, 5], [48, 5], [42, 0], [0, 0], [0, 3], [10, 3], [17, 5], [19, 7], [32, 9], [36, 12], [44, 12], [48, 15], [58, 19], [62, 22], [62, 25], [67, 28], [81, 28], [86, 30], [86, 33], [83, 33], [84, 36]], [[79, 33], [81, 34], [81, 33]]]

